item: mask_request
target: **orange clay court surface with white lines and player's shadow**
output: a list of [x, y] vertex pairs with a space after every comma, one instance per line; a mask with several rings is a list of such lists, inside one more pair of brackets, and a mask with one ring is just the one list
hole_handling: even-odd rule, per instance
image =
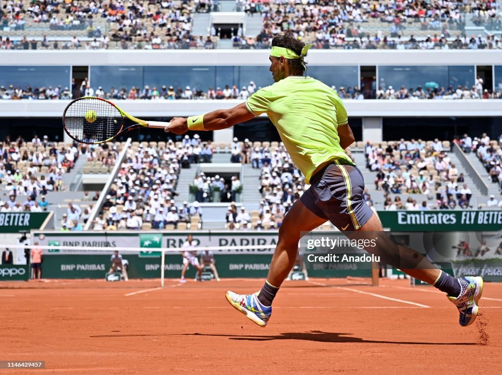
[[443, 293], [408, 280], [287, 281], [265, 329], [224, 297], [263, 280], [166, 280], [147, 291], [85, 283], [0, 290], [2, 360], [45, 360], [37, 373], [68, 374], [502, 371], [497, 283], [485, 284], [482, 315], [461, 328]]

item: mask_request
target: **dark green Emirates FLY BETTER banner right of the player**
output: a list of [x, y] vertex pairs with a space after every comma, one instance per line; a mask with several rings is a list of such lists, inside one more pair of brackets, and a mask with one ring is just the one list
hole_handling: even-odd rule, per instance
[[502, 230], [502, 210], [378, 211], [378, 214], [384, 228], [396, 232]]

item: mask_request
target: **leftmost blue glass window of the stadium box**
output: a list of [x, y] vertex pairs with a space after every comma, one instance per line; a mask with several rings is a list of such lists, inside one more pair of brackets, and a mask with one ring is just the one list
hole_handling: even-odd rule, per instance
[[71, 88], [70, 66], [0, 66], [0, 86]]

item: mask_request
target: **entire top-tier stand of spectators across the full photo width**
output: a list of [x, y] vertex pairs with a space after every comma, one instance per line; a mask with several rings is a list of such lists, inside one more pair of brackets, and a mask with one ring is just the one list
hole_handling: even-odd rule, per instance
[[[219, 8], [218, 1], [206, 0], [136, 0], [127, 7], [122, 2], [10, 1], [0, 14], [4, 29], [0, 49], [219, 48], [215, 30], [192, 35], [194, 15]], [[263, 21], [256, 37], [246, 37], [241, 27], [232, 31], [231, 46], [240, 49], [270, 48], [273, 36], [283, 31], [292, 31], [323, 49], [502, 48], [502, 17], [493, 1], [364, 1], [357, 5], [318, 0], [295, 4], [238, 1], [234, 10], [250, 16], [258, 13]], [[480, 27], [484, 32], [479, 33]]]

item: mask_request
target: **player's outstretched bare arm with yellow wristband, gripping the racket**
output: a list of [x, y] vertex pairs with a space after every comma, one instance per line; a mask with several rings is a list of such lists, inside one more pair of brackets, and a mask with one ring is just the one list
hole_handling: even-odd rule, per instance
[[245, 122], [255, 117], [245, 104], [241, 103], [230, 109], [218, 109], [209, 113], [188, 118], [175, 117], [166, 127], [166, 133], [184, 134], [189, 130], [221, 130]]

